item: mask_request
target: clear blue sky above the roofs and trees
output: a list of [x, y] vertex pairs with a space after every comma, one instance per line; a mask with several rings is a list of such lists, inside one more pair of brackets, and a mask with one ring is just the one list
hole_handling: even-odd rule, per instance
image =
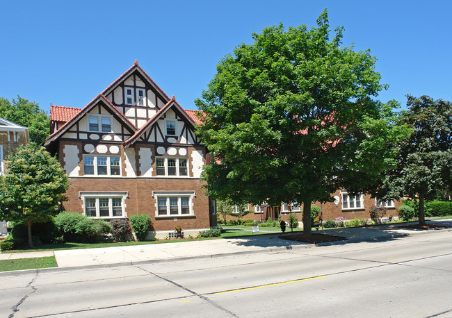
[[242, 42], [282, 22], [315, 26], [328, 8], [344, 46], [371, 49], [389, 90], [452, 101], [452, 1], [0, 0], [0, 97], [83, 107], [137, 59], [183, 108]]

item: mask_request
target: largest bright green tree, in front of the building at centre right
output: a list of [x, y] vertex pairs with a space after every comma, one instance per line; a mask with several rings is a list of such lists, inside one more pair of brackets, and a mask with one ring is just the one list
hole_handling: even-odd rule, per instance
[[342, 47], [343, 28], [330, 40], [329, 28], [325, 10], [311, 29], [253, 33], [195, 101], [204, 112], [197, 133], [213, 157], [203, 174], [209, 195], [303, 203], [305, 233], [312, 202], [331, 201], [344, 186], [365, 189], [391, 167], [386, 106], [372, 99], [385, 89], [376, 59]]

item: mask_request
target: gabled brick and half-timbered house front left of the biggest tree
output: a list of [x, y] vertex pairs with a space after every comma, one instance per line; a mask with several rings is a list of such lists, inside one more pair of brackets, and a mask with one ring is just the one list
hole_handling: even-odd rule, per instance
[[67, 211], [118, 219], [147, 214], [154, 236], [216, 225], [200, 174], [209, 161], [184, 110], [135, 61], [84, 108], [51, 105], [45, 146], [70, 176]]

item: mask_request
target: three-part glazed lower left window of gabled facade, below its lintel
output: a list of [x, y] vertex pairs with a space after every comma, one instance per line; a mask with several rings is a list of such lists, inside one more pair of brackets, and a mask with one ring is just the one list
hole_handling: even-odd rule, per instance
[[124, 217], [123, 196], [84, 196], [87, 217]]

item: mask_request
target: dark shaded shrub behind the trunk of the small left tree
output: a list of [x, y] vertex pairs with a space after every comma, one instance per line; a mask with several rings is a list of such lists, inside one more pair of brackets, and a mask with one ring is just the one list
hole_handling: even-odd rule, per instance
[[[21, 239], [24, 240], [24, 242], [28, 241], [29, 233], [26, 221], [15, 223], [11, 235], [13, 235], [15, 239]], [[31, 235], [32, 239], [36, 239], [36, 242], [41, 242], [42, 244], [53, 243], [56, 240], [56, 237], [59, 236], [54, 217], [49, 217], [46, 221], [32, 223]]]

